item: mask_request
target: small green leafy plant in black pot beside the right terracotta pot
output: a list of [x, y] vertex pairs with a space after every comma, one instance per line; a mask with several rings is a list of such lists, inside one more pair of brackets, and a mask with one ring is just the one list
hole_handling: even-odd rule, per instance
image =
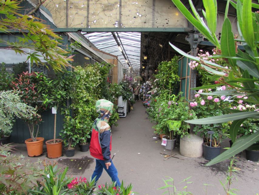
[[79, 135], [75, 134], [76, 128], [81, 128], [78, 119], [73, 119], [70, 115], [66, 115], [64, 118], [63, 130], [60, 132], [60, 136], [63, 138], [65, 144], [65, 152], [67, 157], [75, 155], [75, 147], [79, 142]]

